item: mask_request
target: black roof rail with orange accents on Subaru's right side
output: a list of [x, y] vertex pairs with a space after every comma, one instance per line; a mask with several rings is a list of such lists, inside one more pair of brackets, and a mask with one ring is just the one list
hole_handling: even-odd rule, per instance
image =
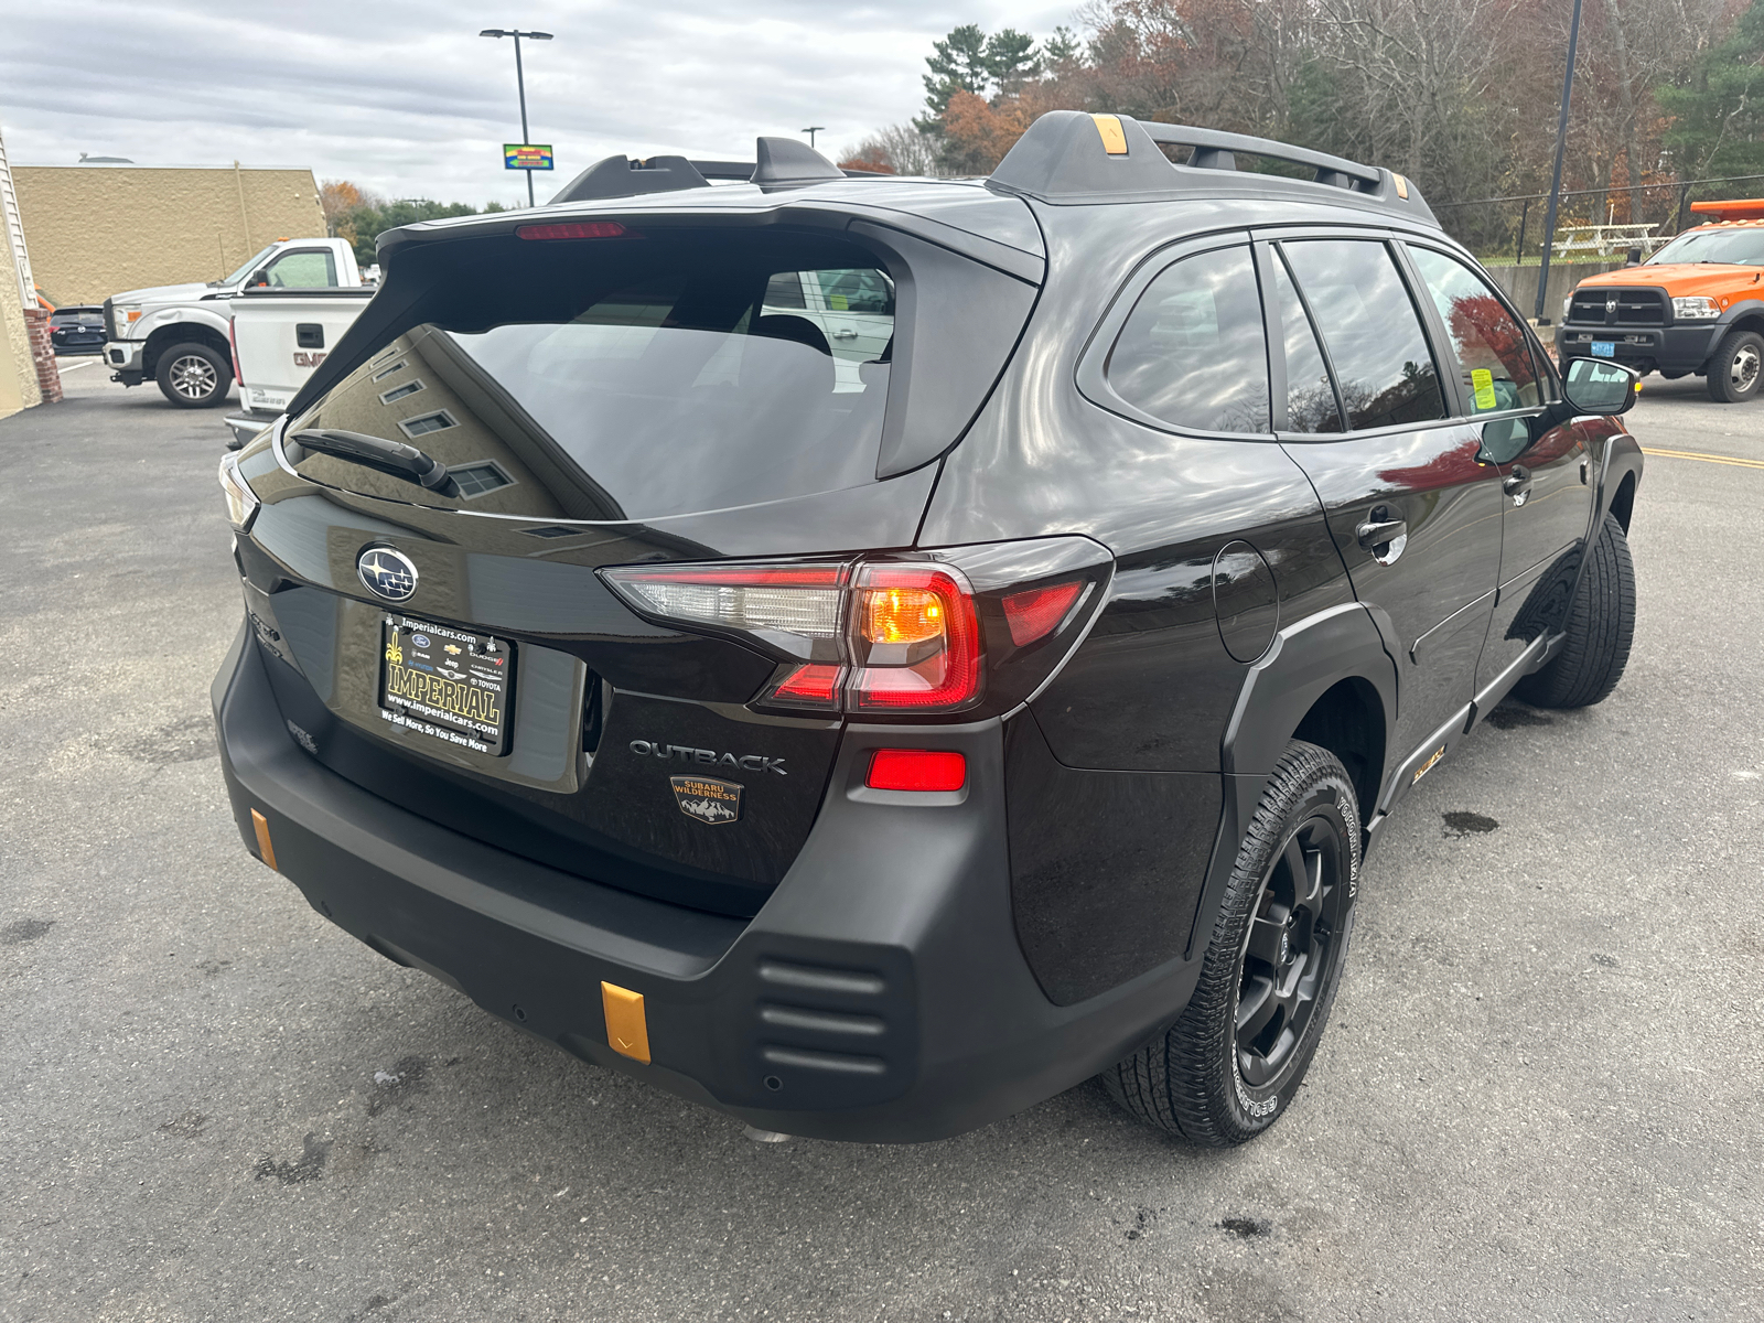
[[[1177, 166], [1162, 146], [1192, 146], [1187, 164]], [[1125, 201], [1159, 194], [1173, 196], [1198, 189], [1208, 180], [1196, 171], [1237, 171], [1237, 157], [1251, 155], [1305, 166], [1311, 180], [1279, 175], [1244, 173], [1238, 183], [1270, 187], [1323, 185], [1360, 194], [1408, 215], [1434, 222], [1420, 191], [1402, 175], [1381, 166], [1275, 143], [1268, 138], [1196, 129], [1185, 123], [1148, 123], [1127, 115], [1085, 115], [1083, 111], [1048, 111], [1028, 125], [990, 183], [1051, 203]], [[1210, 180], [1217, 187], [1219, 180]], [[1438, 222], [1434, 222], [1438, 224]]]

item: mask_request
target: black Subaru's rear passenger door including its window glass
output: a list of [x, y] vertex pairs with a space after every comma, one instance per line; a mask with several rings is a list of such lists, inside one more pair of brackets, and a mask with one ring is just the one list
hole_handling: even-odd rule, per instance
[[1395, 792], [1466, 725], [1499, 573], [1501, 473], [1478, 460], [1480, 430], [1454, 420], [1457, 392], [1387, 238], [1330, 233], [1259, 247], [1286, 346], [1281, 439], [1316, 487], [1355, 594], [1397, 662]]

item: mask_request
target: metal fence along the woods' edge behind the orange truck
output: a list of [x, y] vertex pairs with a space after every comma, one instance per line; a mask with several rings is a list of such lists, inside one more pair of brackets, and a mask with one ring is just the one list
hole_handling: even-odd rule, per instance
[[[1750, 185], [1750, 187], [1745, 187]], [[1644, 233], [1655, 240], [1671, 238], [1681, 229], [1700, 224], [1690, 210], [1695, 201], [1725, 201], [1743, 196], [1764, 196], [1764, 175], [1730, 175], [1711, 180], [1663, 180], [1621, 189], [1572, 189], [1561, 194], [1556, 215], [1556, 252], [1563, 254], [1565, 233], [1582, 231], [1589, 238], [1595, 228], [1630, 228], [1630, 235]], [[1536, 263], [1544, 256], [1544, 215], [1549, 194], [1521, 192], [1512, 198], [1478, 198], [1466, 203], [1436, 203], [1434, 215], [1459, 243], [1489, 261]], [[1644, 231], [1653, 226], [1651, 231]], [[1575, 238], [1575, 236], [1570, 236]], [[1612, 236], [1621, 240], [1621, 236]], [[1641, 243], [1648, 249], [1649, 243]], [[1621, 254], [1621, 247], [1616, 249]]]

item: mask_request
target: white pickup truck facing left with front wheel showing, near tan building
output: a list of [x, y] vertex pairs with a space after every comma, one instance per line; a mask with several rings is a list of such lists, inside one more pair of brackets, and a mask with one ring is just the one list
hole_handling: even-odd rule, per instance
[[355, 250], [340, 238], [284, 238], [208, 284], [129, 289], [104, 300], [111, 381], [157, 381], [168, 400], [199, 409], [233, 385], [228, 300], [243, 289], [362, 289]]

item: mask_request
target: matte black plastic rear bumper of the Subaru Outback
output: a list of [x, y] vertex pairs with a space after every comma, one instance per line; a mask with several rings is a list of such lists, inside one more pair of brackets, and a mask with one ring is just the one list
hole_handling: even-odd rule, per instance
[[[961, 748], [961, 803], [861, 790], [847, 732], [815, 829], [753, 919], [584, 882], [400, 810], [307, 757], [240, 630], [215, 677], [233, 815], [335, 924], [586, 1060], [757, 1127], [921, 1141], [998, 1120], [1127, 1055], [1187, 1002], [1171, 963], [1048, 1002], [1011, 916], [1000, 723]], [[889, 743], [900, 741], [900, 729]], [[651, 1062], [609, 1046], [602, 983], [642, 993]]]

